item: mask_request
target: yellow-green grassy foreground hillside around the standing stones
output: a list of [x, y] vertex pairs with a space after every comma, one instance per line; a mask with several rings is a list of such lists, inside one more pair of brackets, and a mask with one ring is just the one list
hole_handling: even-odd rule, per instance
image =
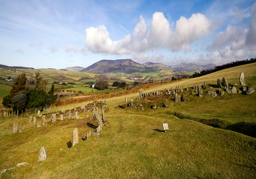
[[[230, 83], [245, 80], [255, 87], [256, 67], [235, 67], [207, 76], [182, 80], [151, 88], [217, 83], [225, 76]], [[138, 94], [128, 96], [135, 99]], [[194, 96], [194, 97], [193, 97]], [[96, 125], [89, 119], [57, 121], [33, 128], [28, 118], [3, 119], [0, 124], [0, 170], [19, 162], [29, 164], [9, 170], [2, 178], [255, 178], [256, 139], [233, 131], [213, 128], [193, 120], [179, 119], [167, 112], [185, 112], [191, 116], [217, 117], [228, 121], [256, 121], [256, 94], [225, 94], [223, 97], [199, 99], [192, 95], [187, 103], [166, 99], [169, 108], [134, 111], [117, 107], [124, 97], [107, 100], [105, 116], [108, 123], [100, 136], [83, 141], [86, 131]], [[150, 104], [152, 101], [146, 101]], [[157, 101], [156, 101], [157, 102]], [[240, 108], [241, 106], [244, 106]], [[71, 106], [70, 106], [71, 108]], [[57, 110], [57, 109], [55, 109]], [[61, 110], [61, 109], [59, 109]], [[92, 112], [80, 113], [84, 117]], [[245, 117], [243, 117], [245, 115]], [[25, 125], [27, 131], [12, 134], [13, 123]], [[169, 131], [162, 132], [162, 123]], [[79, 143], [68, 148], [72, 131], [78, 127]], [[91, 128], [91, 131], [93, 128]], [[48, 158], [37, 162], [40, 148]], [[63, 150], [60, 150], [63, 149]]]

